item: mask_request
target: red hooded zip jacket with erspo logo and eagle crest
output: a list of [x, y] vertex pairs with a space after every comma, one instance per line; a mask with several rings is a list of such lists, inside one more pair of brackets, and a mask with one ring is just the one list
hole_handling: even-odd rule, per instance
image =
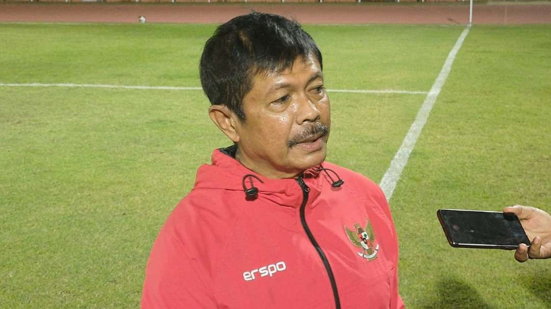
[[[142, 308], [403, 307], [396, 231], [381, 189], [321, 166], [331, 171], [272, 180], [215, 150], [159, 232]], [[263, 183], [243, 181], [247, 174]], [[336, 175], [341, 187], [331, 186]], [[251, 181], [256, 198], [244, 192]]]

